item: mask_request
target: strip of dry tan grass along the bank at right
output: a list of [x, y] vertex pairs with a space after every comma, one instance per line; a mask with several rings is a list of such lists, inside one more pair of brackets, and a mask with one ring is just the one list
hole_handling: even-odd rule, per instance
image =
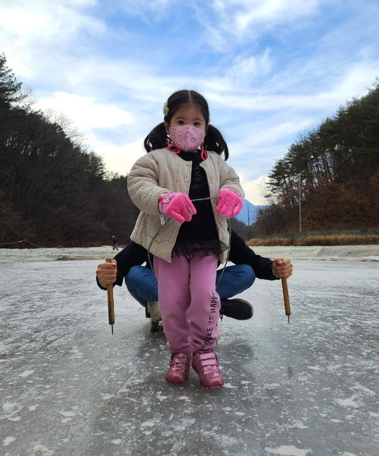
[[271, 237], [267, 239], [254, 238], [246, 242], [249, 246], [280, 246], [280, 245], [372, 245], [379, 244], [379, 235], [331, 235], [304, 237]]

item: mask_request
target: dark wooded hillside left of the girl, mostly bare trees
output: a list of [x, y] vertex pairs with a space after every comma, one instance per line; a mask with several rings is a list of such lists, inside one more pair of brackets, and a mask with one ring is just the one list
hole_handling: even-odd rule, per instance
[[0, 55], [0, 246], [129, 242], [138, 210], [127, 176], [107, 172], [64, 116], [32, 107]]

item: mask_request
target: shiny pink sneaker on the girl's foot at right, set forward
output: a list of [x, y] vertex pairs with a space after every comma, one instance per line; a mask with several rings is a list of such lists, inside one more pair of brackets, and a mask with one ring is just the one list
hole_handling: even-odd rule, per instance
[[215, 388], [224, 384], [217, 355], [213, 350], [200, 350], [193, 353], [192, 367], [200, 378], [201, 387]]

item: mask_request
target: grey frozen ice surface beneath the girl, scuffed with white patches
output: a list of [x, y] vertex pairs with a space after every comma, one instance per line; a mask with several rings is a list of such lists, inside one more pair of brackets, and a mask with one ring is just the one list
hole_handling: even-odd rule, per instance
[[164, 381], [163, 332], [102, 261], [0, 264], [0, 454], [377, 456], [379, 262], [294, 260], [257, 280], [248, 321], [224, 318], [225, 386]]

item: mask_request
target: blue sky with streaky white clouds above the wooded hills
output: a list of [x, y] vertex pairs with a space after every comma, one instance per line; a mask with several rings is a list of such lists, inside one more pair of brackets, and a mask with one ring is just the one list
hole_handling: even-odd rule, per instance
[[377, 0], [0, 0], [0, 53], [127, 174], [178, 89], [203, 94], [252, 204], [299, 135], [379, 76]]

